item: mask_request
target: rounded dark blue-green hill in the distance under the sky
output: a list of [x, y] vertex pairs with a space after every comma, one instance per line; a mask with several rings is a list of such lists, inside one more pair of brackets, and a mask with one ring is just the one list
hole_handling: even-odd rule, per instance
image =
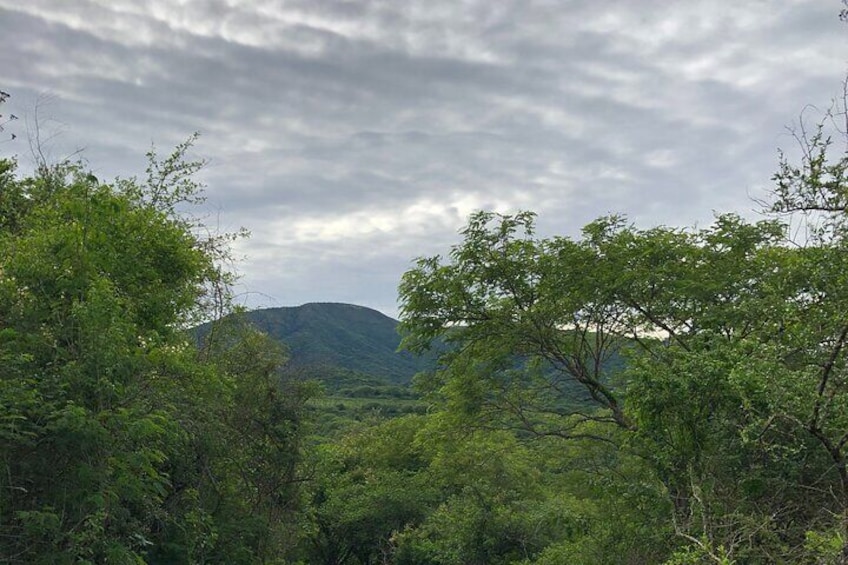
[[312, 303], [242, 315], [288, 346], [292, 367], [341, 367], [407, 384], [434, 366], [432, 359], [398, 352], [398, 321], [363, 306]]

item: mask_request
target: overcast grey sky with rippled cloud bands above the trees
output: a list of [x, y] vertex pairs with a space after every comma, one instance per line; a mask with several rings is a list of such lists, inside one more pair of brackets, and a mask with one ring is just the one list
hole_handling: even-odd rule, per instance
[[[756, 218], [848, 71], [839, 0], [0, 0], [0, 156], [143, 176], [193, 132], [237, 299], [397, 317], [476, 210]], [[805, 108], [807, 108], [805, 110]], [[4, 118], [5, 119], [5, 118]], [[0, 120], [2, 121], [2, 120]], [[12, 140], [11, 135], [16, 139]]]

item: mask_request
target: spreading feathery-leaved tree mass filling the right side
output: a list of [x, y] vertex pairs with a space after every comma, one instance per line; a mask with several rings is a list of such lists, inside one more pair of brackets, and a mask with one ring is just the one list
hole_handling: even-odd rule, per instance
[[576, 240], [537, 238], [530, 213], [472, 216], [400, 285], [405, 344], [449, 344], [422, 385], [468, 424], [619, 429], [670, 503], [674, 559], [846, 547], [848, 159], [822, 127], [775, 177], [771, 211], [806, 214], [803, 245], [734, 215], [701, 230], [601, 218]]

